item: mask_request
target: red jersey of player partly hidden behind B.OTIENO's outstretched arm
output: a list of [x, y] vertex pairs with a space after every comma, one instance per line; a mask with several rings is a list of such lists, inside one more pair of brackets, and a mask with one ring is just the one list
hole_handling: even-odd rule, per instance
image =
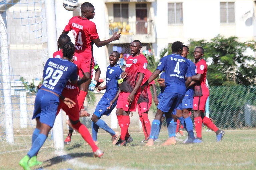
[[[149, 71], [148, 69], [146, 69], [146, 74], [143, 78], [142, 84], [144, 84], [149, 77], [152, 75], [151, 71]], [[155, 81], [151, 81], [149, 82], [149, 84], [145, 87], [145, 89], [141, 92], [140, 97], [138, 99], [137, 103], [142, 103], [142, 102], [146, 102], [146, 103], [152, 103], [152, 94], [150, 91], [150, 86], [152, 84], [155, 84]]]

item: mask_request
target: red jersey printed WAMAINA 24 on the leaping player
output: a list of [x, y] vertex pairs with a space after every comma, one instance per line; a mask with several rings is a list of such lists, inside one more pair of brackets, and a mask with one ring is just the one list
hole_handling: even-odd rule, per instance
[[93, 57], [92, 40], [99, 38], [94, 22], [80, 16], [75, 16], [69, 20], [64, 30], [72, 31], [76, 41], [77, 53], [83, 53], [81, 55], [85, 58]]

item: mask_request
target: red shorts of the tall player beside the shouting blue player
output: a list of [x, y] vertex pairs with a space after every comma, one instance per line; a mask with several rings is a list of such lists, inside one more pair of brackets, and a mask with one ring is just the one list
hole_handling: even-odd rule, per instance
[[127, 98], [129, 95], [130, 95], [130, 93], [121, 91], [121, 93], [119, 94], [119, 97], [117, 99], [116, 108], [121, 108], [127, 112], [136, 111], [136, 106], [137, 106], [137, 102], [138, 102], [140, 95], [137, 95], [137, 94], [134, 95], [134, 100], [133, 100], [132, 104], [129, 104], [127, 102]]

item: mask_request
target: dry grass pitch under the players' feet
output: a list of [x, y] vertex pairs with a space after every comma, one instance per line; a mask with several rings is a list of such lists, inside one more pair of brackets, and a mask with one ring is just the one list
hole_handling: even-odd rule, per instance
[[[223, 141], [216, 142], [214, 132], [202, 132], [204, 143], [161, 146], [163, 142], [146, 147], [141, 143], [143, 132], [130, 132], [133, 142], [126, 147], [113, 146], [111, 136], [99, 130], [98, 147], [104, 151], [102, 158], [93, 158], [90, 146], [79, 134], [72, 136], [71, 144], [64, 151], [44, 148], [38, 154], [43, 165], [32, 169], [40, 170], [135, 170], [135, 169], [186, 169], [186, 170], [249, 170], [256, 169], [256, 130], [226, 130]], [[66, 136], [65, 136], [66, 137]], [[163, 128], [160, 132], [162, 141], [168, 138]], [[185, 137], [182, 137], [185, 139]], [[0, 155], [0, 169], [22, 169], [19, 160], [27, 151]]]

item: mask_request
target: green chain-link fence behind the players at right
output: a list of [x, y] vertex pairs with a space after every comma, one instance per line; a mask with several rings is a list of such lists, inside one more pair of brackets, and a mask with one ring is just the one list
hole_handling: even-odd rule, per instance
[[[211, 86], [209, 91], [209, 117], [218, 128], [256, 127], [256, 87]], [[157, 92], [160, 92], [160, 87], [157, 88]], [[154, 106], [151, 109], [153, 112], [156, 111]], [[165, 121], [163, 126], [166, 126]]]

